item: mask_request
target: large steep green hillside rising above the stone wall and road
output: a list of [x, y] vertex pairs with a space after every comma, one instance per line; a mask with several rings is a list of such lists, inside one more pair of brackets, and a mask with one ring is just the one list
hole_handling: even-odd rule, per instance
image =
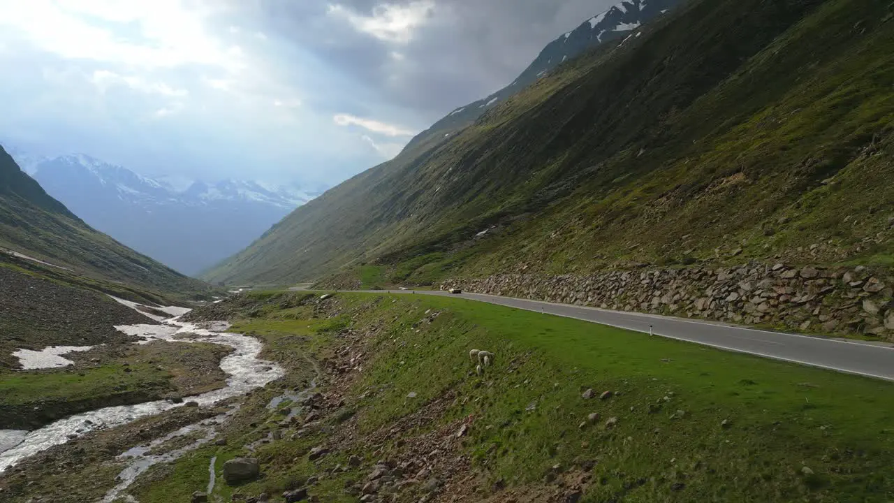
[[892, 17], [881, 0], [694, 0], [342, 183], [206, 278], [890, 265]]

